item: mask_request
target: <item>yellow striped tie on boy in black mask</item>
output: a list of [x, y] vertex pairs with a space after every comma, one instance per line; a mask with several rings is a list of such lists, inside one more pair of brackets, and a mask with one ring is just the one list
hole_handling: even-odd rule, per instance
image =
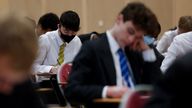
[[64, 62], [64, 47], [65, 47], [65, 43], [63, 43], [60, 48], [59, 48], [59, 54], [58, 54], [58, 65], [61, 65]]

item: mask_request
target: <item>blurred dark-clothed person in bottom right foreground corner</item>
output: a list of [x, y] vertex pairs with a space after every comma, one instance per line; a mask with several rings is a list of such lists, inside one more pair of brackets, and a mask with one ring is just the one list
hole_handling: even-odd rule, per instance
[[174, 61], [145, 108], [191, 108], [192, 52]]

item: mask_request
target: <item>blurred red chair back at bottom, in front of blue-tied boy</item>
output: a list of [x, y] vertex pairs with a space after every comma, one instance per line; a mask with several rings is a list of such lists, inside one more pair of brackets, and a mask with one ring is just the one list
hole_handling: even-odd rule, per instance
[[128, 92], [122, 98], [120, 108], [144, 108], [151, 96], [151, 86], [137, 86], [134, 91]]

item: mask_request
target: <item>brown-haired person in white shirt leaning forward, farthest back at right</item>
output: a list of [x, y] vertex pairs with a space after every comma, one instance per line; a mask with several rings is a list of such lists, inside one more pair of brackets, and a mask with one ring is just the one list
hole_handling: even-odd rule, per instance
[[163, 34], [162, 38], [159, 40], [157, 44], [157, 47], [156, 47], [157, 50], [161, 54], [166, 56], [167, 49], [169, 48], [170, 44], [173, 42], [173, 39], [175, 38], [175, 36], [181, 33], [191, 31], [191, 25], [192, 25], [191, 16], [180, 17], [178, 28], [175, 30], [166, 31]]

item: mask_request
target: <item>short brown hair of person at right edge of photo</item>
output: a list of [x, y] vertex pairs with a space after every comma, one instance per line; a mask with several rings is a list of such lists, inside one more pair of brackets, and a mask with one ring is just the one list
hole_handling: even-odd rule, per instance
[[184, 32], [192, 31], [192, 16], [180, 17], [178, 27]]

